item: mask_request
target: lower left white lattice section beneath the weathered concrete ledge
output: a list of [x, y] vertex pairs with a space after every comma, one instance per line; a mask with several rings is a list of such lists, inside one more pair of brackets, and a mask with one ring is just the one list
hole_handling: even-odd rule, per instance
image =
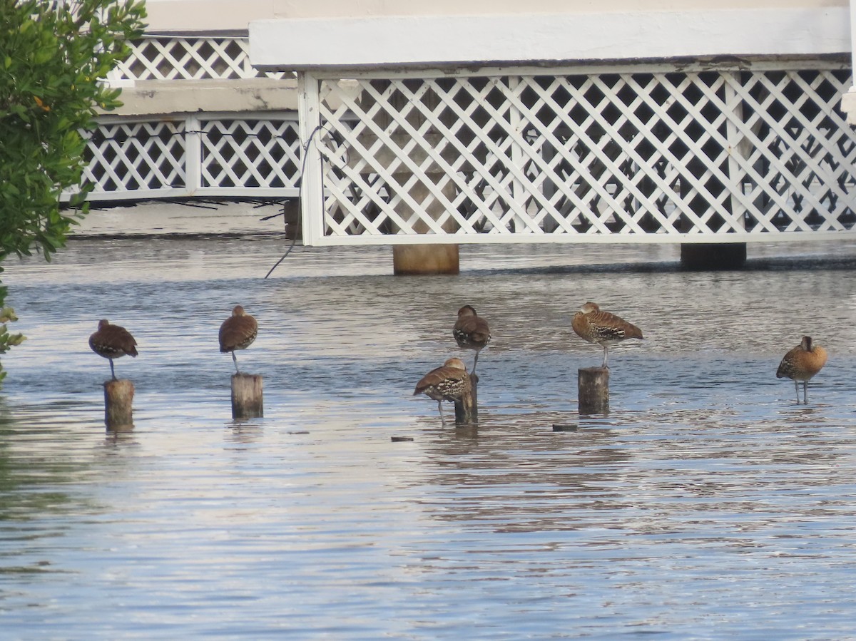
[[[253, 120], [208, 114], [174, 121], [104, 119], [86, 148], [91, 201], [296, 197], [294, 114]], [[68, 199], [68, 194], [65, 194]]]

